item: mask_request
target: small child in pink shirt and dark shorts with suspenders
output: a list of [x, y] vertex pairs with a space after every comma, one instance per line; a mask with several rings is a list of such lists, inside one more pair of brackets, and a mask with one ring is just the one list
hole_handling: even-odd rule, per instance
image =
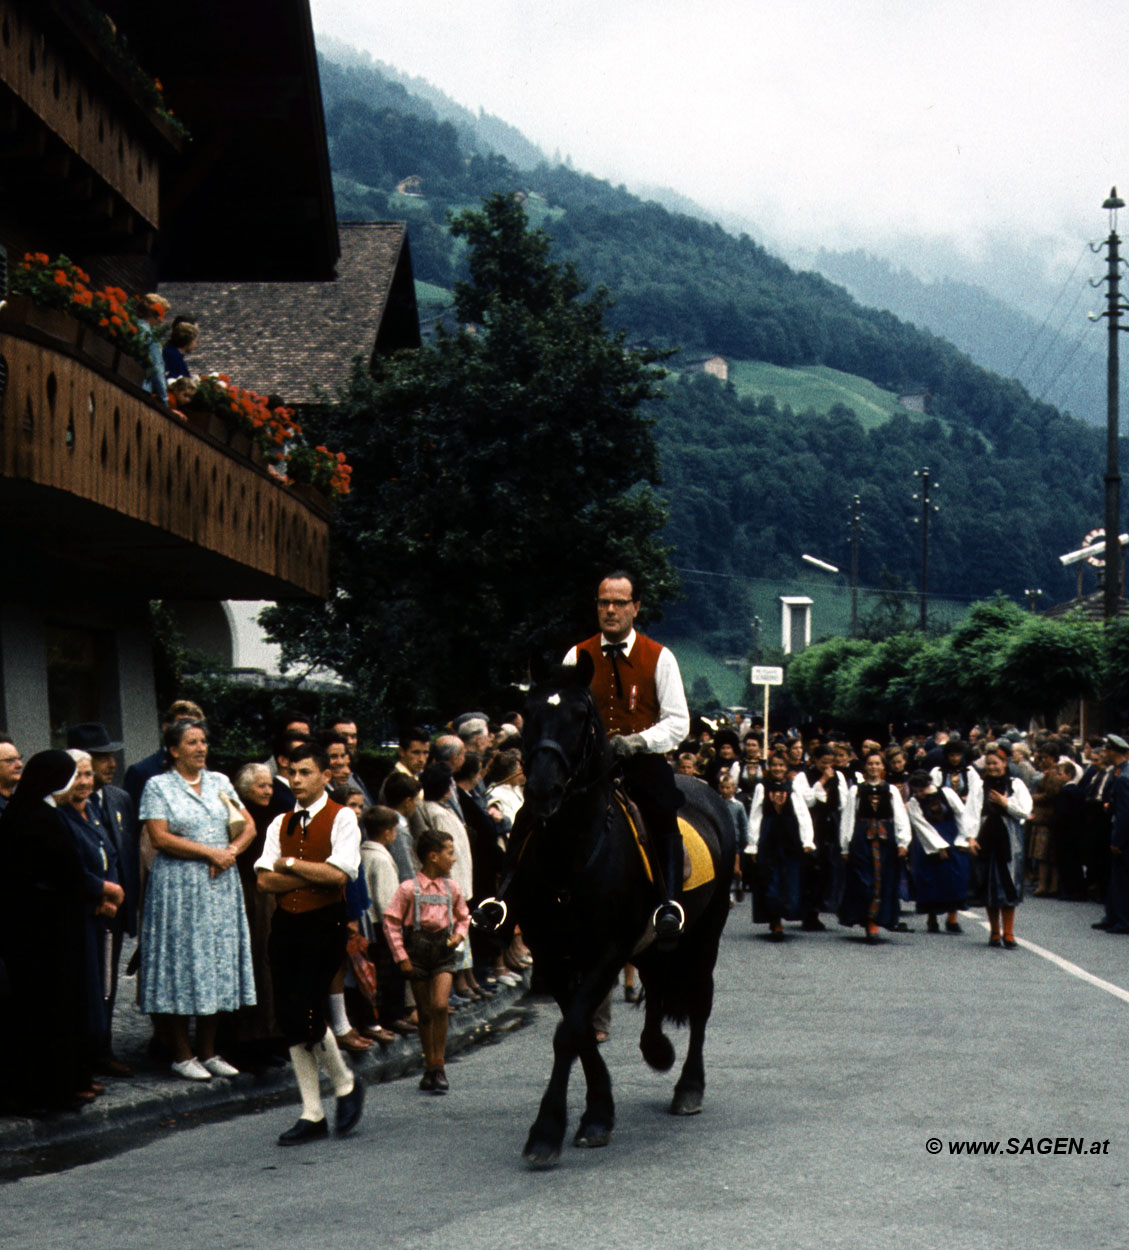
[[449, 834], [425, 829], [416, 841], [420, 871], [401, 881], [384, 912], [384, 934], [393, 959], [411, 978], [419, 1011], [424, 1075], [419, 1088], [446, 1094], [448, 999], [455, 970], [455, 949], [466, 940], [470, 911], [451, 880], [455, 844]]

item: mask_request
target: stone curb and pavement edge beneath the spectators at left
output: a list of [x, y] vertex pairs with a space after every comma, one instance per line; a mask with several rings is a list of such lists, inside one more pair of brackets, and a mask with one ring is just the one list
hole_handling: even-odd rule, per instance
[[[530, 974], [520, 985], [504, 986], [485, 1002], [475, 1002], [451, 1016], [448, 1054], [458, 1054], [494, 1032], [521, 1022], [521, 1000]], [[130, 1056], [133, 1061], [133, 1056]], [[350, 1055], [350, 1066], [366, 1085], [410, 1075], [423, 1068], [419, 1038], [398, 1038], [374, 1045], [364, 1055]], [[298, 1102], [298, 1085], [289, 1064], [261, 1074], [185, 1081], [151, 1062], [139, 1065], [131, 1078], [106, 1080], [106, 1092], [78, 1112], [49, 1119], [0, 1116], [0, 1180], [19, 1180], [63, 1171], [95, 1159], [144, 1146], [156, 1136], [198, 1124], [253, 1115], [268, 1108]]]

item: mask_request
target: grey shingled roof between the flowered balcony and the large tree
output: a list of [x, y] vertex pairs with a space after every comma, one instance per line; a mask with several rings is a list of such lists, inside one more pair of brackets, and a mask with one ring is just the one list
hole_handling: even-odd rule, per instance
[[331, 282], [164, 282], [173, 314], [200, 326], [189, 362], [288, 404], [314, 404], [319, 392], [335, 394], [355, 356], [418, 348], [406, 230], [401, 221], [341, 222]]

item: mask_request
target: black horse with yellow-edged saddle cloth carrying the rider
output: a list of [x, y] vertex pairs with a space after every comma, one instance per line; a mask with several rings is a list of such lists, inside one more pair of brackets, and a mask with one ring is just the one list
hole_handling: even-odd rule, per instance
[[650, 918], [658, 890], [616, 799], [615, 762], [590, 681], [591, 661], [581, 652], [575, 666], [534, 686], [525, 708], [525, 802], [511, 839], [515, 864], [506, 900], [536, 972], [563, 1014], [553, 1042], [553, 1075], [525, 1142], [525, 1159], [535, 1168], [560, 1156], [569, 1074], [578, 1058], [588, 1094], [574, 1142], [604, 1146], [611, 1136], [611, 1079], [591, 1021], [629, 960], [644, 988], [643, 1058], [655, 1070], [669, 1071], [674, 1046], [663, 1022], [689, 1022], [690, 1042], [670, 1111], [701, 1110], [701, 1050], [718, 942], [729, 915], [733, 822], [709, 786], [680, 778], [680, 816], [700, 832], [711, 869], [695, 875], [711, 880], [694, 886], [691, 878], [683, 894], [684, 934], [673, 950], [655, 948]]

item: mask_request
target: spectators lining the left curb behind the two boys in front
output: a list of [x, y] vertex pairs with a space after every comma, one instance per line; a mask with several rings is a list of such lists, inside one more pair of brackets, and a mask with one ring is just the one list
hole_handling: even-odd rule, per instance
[[[196, 1081], [286, 1062], [268, 958], [278, 895], [256, 888], [256, 862], [271, 821], [295, 808], [290, 758], [309, 750], [325, 760], [329, 796], [351, 809], [363, 839], [329, 1024], [356, 1054], [418, 1035], [386, 914], [420, 869], [424, 834], [451, 839], [460, 898], [473, 904], [494, 892], [521, 802], [519, 725], [518, 714], [503, 724], [468, 714], [439, 734], [413, 726], [395, 758], [370, 756], [378, 766], [361, 778], [351, 714], [315, 726], [293, 712], [270, 755], [229, 779], [209, 768], [205, 710], [179, 700], [161, 719], [161, 746], [131, 764], [120, 786], [128, 748], [103, 725], [70, 726], [68, 749], [39, 752], [26, 770], [0, 734], [0, 846], [16, 895], [0, 919], [9, 1021], [0, 1109], [79, 1109], [104, 1092], [106, 1078], [133, 1074], [114, 1048], [119, 975], [136, 974], [131, 992], [153, 1022], [149, 1061]], [[445, 1011], [519, 984], [530, 962], [520, 935], [504, 950], [471, 935], [456, 950]], [[34, 1038], [20, 1036], [14, 1020], [34, 1021]]]

